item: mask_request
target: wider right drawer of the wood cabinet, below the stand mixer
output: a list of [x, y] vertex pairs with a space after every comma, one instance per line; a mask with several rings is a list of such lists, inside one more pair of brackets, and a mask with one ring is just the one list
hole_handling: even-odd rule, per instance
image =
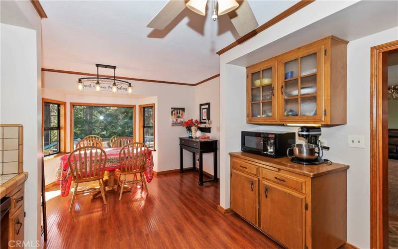
[[283, 174], [281, 172], [275, 172], [268, 169], [261, 169], [261, 177], [269, 181], [278, 183], [280, 185], [292, 188], [301, 193], [305, 193], [305, 180], [296, 178], [291, 175]]

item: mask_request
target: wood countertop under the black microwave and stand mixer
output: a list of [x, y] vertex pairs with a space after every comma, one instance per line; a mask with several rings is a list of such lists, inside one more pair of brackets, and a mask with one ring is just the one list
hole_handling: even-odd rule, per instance
[[326, 163], [322, 163], [319, 165], [302, 165], [292, 162], [291, 159], [288, 157], [272, 158], [242, 151], [229, 152], [229, 155], [232, 157], [237, 157], [240, 159], [258, 163], [260, 164], [259, 166], [264, 165], [267, 167], [274, 167], [308, 177], [326, 175], [333, 172], [346, 170], [350, 167], [348, 165], [335, 162], [333, 162], [333, 164], [331, 165]]

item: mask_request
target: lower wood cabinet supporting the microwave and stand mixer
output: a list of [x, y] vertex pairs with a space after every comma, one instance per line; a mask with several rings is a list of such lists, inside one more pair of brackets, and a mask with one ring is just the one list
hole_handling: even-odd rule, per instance
[[278, 168], [278, 159], [268, 163], [265, 157], [262, 164], [262, 156], [250, 161], [247, 154], [230, 153], [236, 214], [287, 248], [336, 249], [346, 242], [347, 165], [292, 168], [283, 162]]

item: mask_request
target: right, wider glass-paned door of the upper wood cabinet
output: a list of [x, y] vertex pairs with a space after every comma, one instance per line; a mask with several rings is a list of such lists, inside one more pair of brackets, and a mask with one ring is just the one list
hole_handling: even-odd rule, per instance
[[321, 50], [304, 53], [300, 57], [287, 59], [282, 63], [281, 73], [281, 119], [316, 120], [320, 119], [320, 81], [318, 72]]

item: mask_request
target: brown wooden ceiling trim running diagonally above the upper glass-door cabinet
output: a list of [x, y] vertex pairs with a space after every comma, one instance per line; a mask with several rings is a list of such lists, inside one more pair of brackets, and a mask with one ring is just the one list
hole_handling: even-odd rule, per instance
[[218, 52], [216, 52], [216, 54], [221, 55], [221, 54], [225, 53], [226, 51], [236, 47], [237, 45], [249, 40], [250, 38], [253, 38], [258, 33], [262, 32], [262, 31], [266, 30], [267, 28], [271, 27], [272, 25], [282, 21], [286, 17], [290, 16], [291, 14], [294, 14], [295, 12], [297, 12], [298, 10], [300, 10], [301, 8], [305, 7], [306, 5], [310, 4], [313, 1], [314, 0], [301, 0], [301, 1], [299, 1], [298, 3], [296, 3], [292, 7], [288, 8], [287, 10], [283, 11], [279, 15], [275, 16], [271, 20], [267, 21], [263, 25], [259, 26], [258, 28], [254, 29], [253, 31], [250, 31], [249, 33], [247, 33], [244, 36], [240, 37], [239, 39], [237, 39], [236, 41], [232, 42], [228, 46], [226, 46], [223, 49], [219, 50]]

